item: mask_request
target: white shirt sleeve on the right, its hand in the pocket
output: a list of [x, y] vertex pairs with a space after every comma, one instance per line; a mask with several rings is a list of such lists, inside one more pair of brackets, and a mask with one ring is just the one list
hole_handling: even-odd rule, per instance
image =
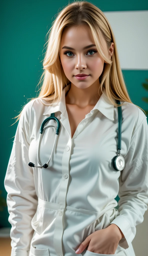
[[148, 208], [148, 125], [145, 116], [133, 133], [125, 167], [119, 177], [119, 215], [110, 223], [117, 225], [124, 238], [120, 247], [127, 249], [135, 237], [136, 225], [143, 222]]

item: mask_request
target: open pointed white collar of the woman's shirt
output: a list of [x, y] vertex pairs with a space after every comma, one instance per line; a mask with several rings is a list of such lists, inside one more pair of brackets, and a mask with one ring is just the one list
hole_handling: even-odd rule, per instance
[[[65, 113], [66, 111], [66, 103], [65, 103], [65, 94], [69, 90], [70, 84], [68, 84], [63, 90], [62, 90], [62, 95], [60, 101], [52, 106], [49, 105], [47, 110], [43, 115], [49, 115], [51, 113], [55, 113], [57, 111], [60, 111], [62, 114]], [[113, 98], [114, 102], [115, 99]], [[94, 111], [99, 110], [103, 115], [105, 115], [107, 118], [110, 120], [114, 120], [114, 105], [110, 102], [110, 100], [107, 97], [106, 90], [103, 90], [103, 93], [101, 97], [99, 98], [98, 102], [94, 106], [94, 108], [90, 111], [91, 113], [88, 114], [91, 115], [94, 113]]]

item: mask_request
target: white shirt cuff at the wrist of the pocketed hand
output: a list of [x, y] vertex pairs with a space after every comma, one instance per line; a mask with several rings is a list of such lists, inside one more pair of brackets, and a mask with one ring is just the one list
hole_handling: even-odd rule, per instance
[[119, 241], [120, 247], [124, 249], [129, 248], [130, 243], [135, 237], [132, 233], [130, 223], [122, 215], [118, 215], [110, 224], [117, 225], [124, 235], [124, 238], [121, 238]]

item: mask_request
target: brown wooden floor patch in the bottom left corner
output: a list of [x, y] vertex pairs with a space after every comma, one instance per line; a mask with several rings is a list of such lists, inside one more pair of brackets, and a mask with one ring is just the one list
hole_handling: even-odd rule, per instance
[[10, 256], [11, 255], [11, 238], [0, 237], [0, 255]]

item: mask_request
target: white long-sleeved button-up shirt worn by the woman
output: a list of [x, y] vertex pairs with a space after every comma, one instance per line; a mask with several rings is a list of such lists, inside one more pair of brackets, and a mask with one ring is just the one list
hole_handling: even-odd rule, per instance
[[[118, 154], [118, 109], [104, 90], [71, 139], [65, 103], [69, 87], [63, 89], [55, 106], [44, 105], [48, 103], [38, 98], [22, 111], [4, 180], [12, 225], [11, 256], [73, 256], [91, 233], [110, 223], [124, 234], [112, 254], [118, 256], [118, 251], [131, 246], [136, 225], [143, 222], [148, 208], [147, 117], [134, 104], [120, 101], [124, 103], [121, 155], [125, 167], [115, 171], [112, 158]], [[51, 113], [61, 123], [54, 153], [47, 168], [30, 167], [29, 162], [39, 166], [40, 126]], [[50, 120], [47, 125], [57, 127], [57, 122]], [[52, 126], [42, 134], [42, 165], [49, 160], [55, 135]], [[114, 199], [117, 195], [119, 202]], [[85, 256], [105, 255], [86, 249]]]

